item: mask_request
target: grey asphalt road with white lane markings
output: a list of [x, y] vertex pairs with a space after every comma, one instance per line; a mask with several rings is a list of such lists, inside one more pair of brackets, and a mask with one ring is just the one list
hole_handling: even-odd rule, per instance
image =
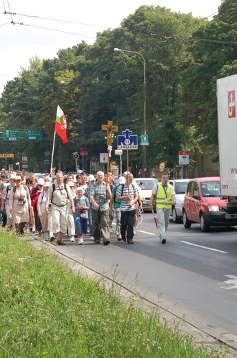
[[167, 243], [161, 244], [152, 214], [145, 213], [133, 245], [118, 242], [115, 227], [108, 246], [87, 236], [83, 245], [65, 242], [53, 247], [237, 345], [237, 227], [203, 233], [198, 224], [185, 229], [169, 222]]

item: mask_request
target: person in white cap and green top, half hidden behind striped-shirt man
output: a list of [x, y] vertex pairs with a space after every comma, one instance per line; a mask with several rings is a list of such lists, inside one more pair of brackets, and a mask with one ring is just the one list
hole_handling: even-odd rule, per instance
[[126, 179], [124, 176], [121, 176], [118, 179], [118, 183], [114, 185], [112, 192], [111, 192], [111, 199], [110, 199], [110, 213], [114, 213], [116, 215], [116, 236], [118, 241], [122, 240], [121, 236], [121, 200], [118, 200], [116, 196], [116, 192], [118, 190], [118, 187], [120, 185], [124, 185], [126, 182]]

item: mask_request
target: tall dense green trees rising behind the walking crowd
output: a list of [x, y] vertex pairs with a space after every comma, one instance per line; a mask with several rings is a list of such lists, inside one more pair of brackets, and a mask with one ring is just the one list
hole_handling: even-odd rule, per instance
[[[236, 73], [236, 38], [235, 0], [222, 1], [212, 21], [161, 6], [141, 6], [120, 28], [99, 33], [94, 45], [81, 42], [59, 50], [54, 59], [30, 59], [28, 69], [22, 68], [3, 91], [1, 128], [43, 130], [41, 143], [21, 140], [20, 148], [19, 143], [12, 145], [14, 153], [28, 156], [30, 170], [37, 163], [43, 171], [60, 105], [68, 118], [68, 144], [60, 145], [56, 138], [62, 169], [74, 168], [71, 154], [81, 146], [88, 149], [88, 163], [98, 161], [99, 152], [106, 151], [101, 125], [107, 120], [118, 125], [118, 134], [127, 128], [143, 134], [143, 56], [150, 136], [147, 167], [161, 162], [173, 167], [179, 150], [201, 144], [216, 152], [216, 79]], [[136, 171], [142, 152], [139, 148], [131, 154]]]

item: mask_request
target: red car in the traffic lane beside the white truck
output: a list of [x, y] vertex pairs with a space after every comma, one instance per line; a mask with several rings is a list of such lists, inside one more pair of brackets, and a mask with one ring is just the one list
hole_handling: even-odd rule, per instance
[[183, 202], [183, 225], [191, 227], [198, 222], [200, 229], [236, 226], [237, 219], [227, 215], [227, 199], [220, 198], [220, 178], [195, 178], [189, 180]]

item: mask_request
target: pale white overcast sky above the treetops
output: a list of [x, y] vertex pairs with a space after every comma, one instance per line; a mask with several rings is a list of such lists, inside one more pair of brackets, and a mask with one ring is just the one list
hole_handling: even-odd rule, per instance
[[21, 67], [28, 68], [30, 58], [53, 59], [58, 50], [81, 41], [93, 44], [97, 32], [118, 28], [139, 6], [163, 6], [172, 12], [192, 12], [194, 17], [211, 20], [222, 0], [0, 1], [1, 94]]

